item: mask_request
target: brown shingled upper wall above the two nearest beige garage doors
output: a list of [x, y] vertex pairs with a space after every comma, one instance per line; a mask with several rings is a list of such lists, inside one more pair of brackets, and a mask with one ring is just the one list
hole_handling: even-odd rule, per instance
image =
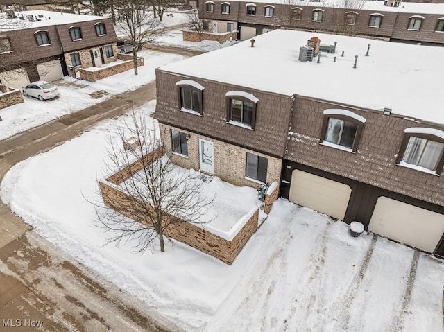
[[[323, 171], [348, 177], [382, 189], [408, 195], [419, 200], [444, 205], [444, 179], [441, 176], [395, 165], [404, 129], [426, 125], [382, 112], [332, 105], [312, 98], [298, 97], [291, 126], [292, 134], [285, 159]], [[323, 110], [342, 108], [364, 116], [366, 123], [356, 153], [319, 143]]]

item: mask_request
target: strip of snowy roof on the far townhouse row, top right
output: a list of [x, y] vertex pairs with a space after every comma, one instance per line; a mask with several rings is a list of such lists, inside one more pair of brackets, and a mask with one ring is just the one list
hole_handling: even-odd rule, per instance
[[[246, 2], [246, 1], [242, 1]], [[348, 5], [345, 5], [348, 2]], [[418, 3], [401, 2], [398, 7], [384, 6], [384, 1], [364, 1], [364, 0], [325, 0], [325, 1], [304, 1], [304, 0], [255, 0], [255, 3], [280, 3], [290, 6], [313, 6], [313, 7], [335, 7], [348, 10], [375, 10], [384, 12], [417, 12], [422, 14], [443, 14], [444, 3]]]

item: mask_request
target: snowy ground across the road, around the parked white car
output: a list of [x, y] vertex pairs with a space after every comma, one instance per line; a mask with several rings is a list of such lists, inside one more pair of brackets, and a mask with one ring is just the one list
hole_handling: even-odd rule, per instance
[[[65, 76], [54, 82], [58, 85], [60, 96], [51, 101], [39, 101], [24, 97], [24, 103], [12, 105], [0, 110], [0, 141], [35, 128], [66, 114], [83, 110], [85, 107], [100, 103], [113, 95], [131, 91], [155, 80], [154, 69], [170, 62], [182, 60], [182, 55], [141, 51], [145, 65], [139, 68], [139, 75], [134, 71], [119, 73], [97, 82], [87, 82]], [[99, 98], [94, 94], [99, 92]]]

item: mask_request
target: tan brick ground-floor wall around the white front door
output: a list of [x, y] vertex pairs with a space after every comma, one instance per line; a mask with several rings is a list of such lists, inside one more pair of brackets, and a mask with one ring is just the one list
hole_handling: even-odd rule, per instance
[[230, 182], [237, 186], [251, 186], [259, 188], [260, 182], [246, 179], [246, 152], [253, 153], [260, 157], [268, 159], [268, 168], [266, 181], [268, 183], [280, 181], [280, 171], [282, 168], [282, 159], [270, 157], [264, 153], [255, 152], [246, 148], [241, 148], [230, 143], [217, 141], [215, 139], [206, 137], [201, 134], [196, 134], [189, 130], [181, 130], [171, 127], [169, 125], [160, 124], [160, 130], [166, 132], [167, 139], [165, 148], [171, 151], [171, 139], [169, 139], [169, 130], [179, 130], [189, 134], [188, 143], [188, 157], [182, 155], [172, 155], [171, 160], [174, 164], [184, 168], [194, 168], [198, 170], [199, 166], [199, 139], [206, 139], [213, 142], [214, 149], [214, 175], [220, 177], [225, 182]]

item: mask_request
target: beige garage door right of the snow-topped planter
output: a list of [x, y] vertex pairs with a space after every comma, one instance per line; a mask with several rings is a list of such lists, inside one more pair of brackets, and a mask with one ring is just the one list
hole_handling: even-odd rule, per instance
[[395, 241], [433, 252], [444, 232], [444, 216], [379, 197], [368, 229]]

